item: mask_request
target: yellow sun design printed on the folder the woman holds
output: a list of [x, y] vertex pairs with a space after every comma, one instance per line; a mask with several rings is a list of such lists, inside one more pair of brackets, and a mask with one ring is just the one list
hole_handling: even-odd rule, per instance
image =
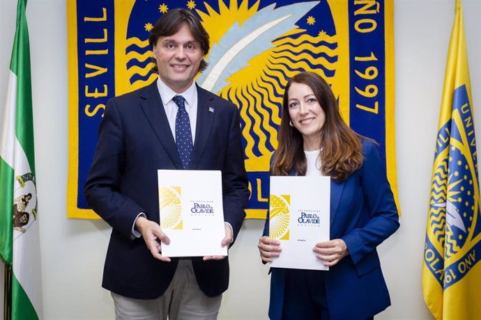
[[269, 237], [289, 240], [290, 195], [270, 195]]

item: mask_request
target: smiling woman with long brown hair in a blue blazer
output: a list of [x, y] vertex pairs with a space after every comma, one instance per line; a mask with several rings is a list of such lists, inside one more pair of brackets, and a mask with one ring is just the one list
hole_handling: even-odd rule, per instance
[[[372, 319], [390, 305], [376, 246], [399, 227], [394, 198], [374, 142], [349, 129], [326, 81], [296, 74], [282, 102], [271, 175], [331, 177], [330, 241], [313, 254], [329, 271], [271, 269], [270, 319]], [[263, 262], [280, 241], [259, 239]]]

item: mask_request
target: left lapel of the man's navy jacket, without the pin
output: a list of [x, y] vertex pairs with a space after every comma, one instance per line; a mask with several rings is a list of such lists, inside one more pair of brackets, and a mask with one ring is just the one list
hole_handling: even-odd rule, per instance
[[146, 86], [140, 94], [140, 105], [144, 111], [147, 121], [150, 123], [155, 136], [160, 141], [165, 152], [174, 163], [176, 168], [182, 169], [180, 157], [178, 157], [176, 143], [169, 127], [169, 121], [163, 108], [162, 99], [160, 99], [157, 81]]

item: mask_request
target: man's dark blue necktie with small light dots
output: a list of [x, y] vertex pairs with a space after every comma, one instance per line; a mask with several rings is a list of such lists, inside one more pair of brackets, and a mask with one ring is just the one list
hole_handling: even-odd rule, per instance
[[172, 98], [178, 106], [176, 115], [176, 145], [178, 155], [181, 157], [184, 169], [189, 168], [190, 154], [192, 154], [192, 131], [190, 130], [190, 120], [185, 111], [185, 99], [181, 95]]

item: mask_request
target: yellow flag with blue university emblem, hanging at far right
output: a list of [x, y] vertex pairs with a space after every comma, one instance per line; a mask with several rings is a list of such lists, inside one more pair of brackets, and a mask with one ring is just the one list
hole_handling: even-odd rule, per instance
[[478, 155], [461, 1], [456, 1], [434, 157], [422, 291], [436, 319], [479, 319]]

